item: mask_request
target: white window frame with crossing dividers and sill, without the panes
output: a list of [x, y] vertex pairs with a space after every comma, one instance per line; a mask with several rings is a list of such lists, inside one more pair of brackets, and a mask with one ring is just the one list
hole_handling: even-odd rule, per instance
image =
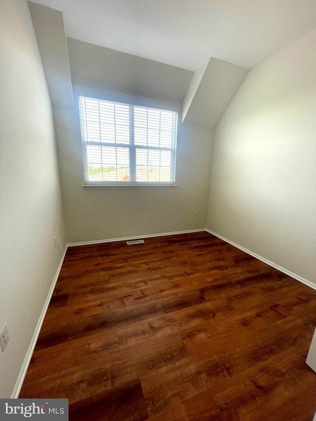
[[[131, 180], [130, 181], [122, 181], [122, 182], [114, 182], [114, 181], [89, 181], [87, 176], [88, 176], [88, 159], [87, 159], [87, 145], [89, 144], [89, 141], [87, 141], [84, 138], [84, 131], [82, 128], [82, 125], [84, 124], [84, 122], [82, 121], [81, 118], [81, 113], [80, 113], [80, 97], [81, 98], [90, 98], [96, 101], [106, 101], [108, 103], [113, 103], [113, 104], [119, 104], [119, 105], [125, 105], [130, 107], [130, 117], [129, 117], [129, 122], [130, 122], [130, 142], [129, 144], [126, 143], [113, 143], [113, 142], [93, 142], [90, 144], [93, 145], [101, 145], [101, 146], [105, 146], [105, 147], [117, 147], [117, 148], [128, 148], [129, 149], [129, 167], [130, 167], [130, 176], [131, 176]], [[80, 118], [80, 128], [81, 128], [81, 141], [82, 141], [82, 152], [83, 152], [83, 166], [84, 166], [84, 186], [83, 187], [93, 187], [93, 188], [138, 188], [138, 187], [143, 187], [143, 188], [153, 188], [153, 187], [157, 187], [157, 188], [161, 188], [161, 187], [165, 187], [165, 188], [172, 188], [172, 187], [176, 187], [175, 184], [175, 174], [176, 174], [176, 147], [177, 147], [177, 132], [178, 132], [178, 111], [176, 110], [168, 110], [167, 108], [161, 108], [161, 107], [148, 107], [148, 106], [142, 106], [142, 105], [138, 105], [138, 104], [133, 104], [133, 103], [125, 103], [125, 102], [118, 102], [118, 101], [111, 101], [105, 98], [100, 98], [94, 95], [85, 95], [85, 94], [81, 94], [79, 93], [78, 96], [78, 101], [79, 101], [79, 118]], [[172, 147], [167, 148], [167, 147], [160, 147], [160, 146], [144, 146], [144, 145], [138, 145], [134, 143], [134, 125], [133, 125], [133, 114], [134, 114], [134, 107], [136, 108], [144, 108], [147, 110], [158, 110], [158, 111], [169, 111], [174, 113], [174, 132], [173, 132], [173, 140], [172, 140]], [[171, 153], [171, 158], [170, 158], [170, 173], [172, 175], [172, 181], [171, 182], [137, 182], [135, 180], [136, 177], [136, 149], [144, 149], [144, 150], [156, 150], [156, 151], [170, 151]]]

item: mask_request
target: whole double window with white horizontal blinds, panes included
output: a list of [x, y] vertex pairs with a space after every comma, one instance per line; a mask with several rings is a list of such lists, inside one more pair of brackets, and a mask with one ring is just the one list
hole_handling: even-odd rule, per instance
[[174, 185], [178, 113], [79, 96], [86, 185]]

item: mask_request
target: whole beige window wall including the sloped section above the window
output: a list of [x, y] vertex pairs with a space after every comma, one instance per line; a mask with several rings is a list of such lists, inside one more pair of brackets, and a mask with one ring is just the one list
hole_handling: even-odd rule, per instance
[[68, 240], [205, 228], [212, 140], [209, 130], [179, 125], [176, 188], [82, 187], [78, 91], [181, 110], [177, 101], [182, 102], [193, 72], [72, 39], [68, 49], [75, 110], [54, 110]]

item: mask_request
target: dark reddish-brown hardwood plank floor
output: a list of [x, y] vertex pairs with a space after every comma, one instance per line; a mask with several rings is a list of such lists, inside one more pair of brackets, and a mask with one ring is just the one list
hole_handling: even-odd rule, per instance
[[68, 249], [21, 398], [70, 420], [312, 421], [316, 291], [207, 232]]

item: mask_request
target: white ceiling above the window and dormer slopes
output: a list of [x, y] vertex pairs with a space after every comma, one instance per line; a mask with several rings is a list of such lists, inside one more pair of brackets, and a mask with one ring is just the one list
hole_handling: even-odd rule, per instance
[[35, 0], [66, 35], [197, 70], [210, 57], [251, 68], [316, 27], [316, 0]]

